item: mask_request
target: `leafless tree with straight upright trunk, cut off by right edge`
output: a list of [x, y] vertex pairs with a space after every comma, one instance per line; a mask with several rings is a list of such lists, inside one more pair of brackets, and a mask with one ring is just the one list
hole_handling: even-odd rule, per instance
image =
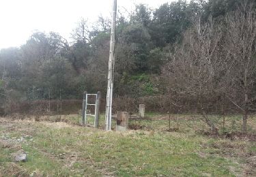
[[256, 14], [251, 7], [244, 7], [225, 18], [227, 35], [226, 52], [231, 61], [227, 73], [227, 97], [243, 112], [242, 130], [247, 131], [248, 112], [253, 109], [255, 86]]

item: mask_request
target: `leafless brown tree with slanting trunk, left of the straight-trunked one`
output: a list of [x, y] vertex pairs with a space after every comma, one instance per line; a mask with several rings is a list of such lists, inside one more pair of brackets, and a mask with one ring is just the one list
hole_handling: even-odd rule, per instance
[[163, 68], [168, 90], [173, 95], [193, 97], [205, 123], [214, 133], [217, 128], [206, 114], [205, 100], [221, 95], [220, 74], [225, 67], [222, 58], [223, 31], [212, 19], [201, 25], [200, 18], [184, 33], [181, 46], [175, 47], [171, 61]]

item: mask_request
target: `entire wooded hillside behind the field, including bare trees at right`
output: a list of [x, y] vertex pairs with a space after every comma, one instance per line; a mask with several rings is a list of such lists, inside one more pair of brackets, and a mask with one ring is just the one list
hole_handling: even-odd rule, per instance
[[[133, 100], [130, 107], [147, 100], [154, 111], [246, 116], [256, 101], [255, 15], [253, 0], [177, 1], [155, 10], [141, 4], [119, 12], [115, 100]], [[38, 31], [20, 48], [2, 49], [1, 114], [14, 103], [82, 99], [83, 91], [105, 97], [109, 38], [110, 20], [100, 16], [93, 27], [81, 19], [72, 42]]]

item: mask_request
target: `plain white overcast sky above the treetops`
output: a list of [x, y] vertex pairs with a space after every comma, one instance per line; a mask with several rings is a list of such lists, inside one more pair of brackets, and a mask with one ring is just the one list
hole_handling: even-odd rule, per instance
[[[0, 49], [25, 44], [33, 31], [54, 31], [69, 39], [83, 17], [95, 22], [98, 16], [111, 16], [113, 0], [0, 0]], [[117, 0], [120, 10], [144, 3], [159, 7], [175, 0]]]

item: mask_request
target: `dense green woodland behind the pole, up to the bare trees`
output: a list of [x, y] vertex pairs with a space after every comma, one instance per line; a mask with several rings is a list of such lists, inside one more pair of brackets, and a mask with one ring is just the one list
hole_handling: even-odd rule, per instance
[[[194, 1], [177, 1], [156, 10], [137, 5], [129, 16], [118, 14], [115, 95], [159, 93], [156, 78], [166, 62], [165, 51], [181, 39], [200, 9]], [[109, 27], [110, 20], [102, 16], [93, 28], [82, 19], [71, 43], [58, 33], [38, 31], [20, 48], [1, 50], [1, 94], [35, 100], [57, 99], [60, 94], [81, 98], [83, 91], [105, 93]]]

